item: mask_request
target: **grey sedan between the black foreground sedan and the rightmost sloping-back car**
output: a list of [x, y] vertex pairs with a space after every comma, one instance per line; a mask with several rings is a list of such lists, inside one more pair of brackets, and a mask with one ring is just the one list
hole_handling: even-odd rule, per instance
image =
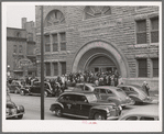
[[125, 107], [134, 104], [134, 101], [130, 97], [128, 97], [122, 89], [117, 87], [95, 87], [94, 93], [98, 99], [107, 100], [108, 102], [114, 102], [117, 105]]

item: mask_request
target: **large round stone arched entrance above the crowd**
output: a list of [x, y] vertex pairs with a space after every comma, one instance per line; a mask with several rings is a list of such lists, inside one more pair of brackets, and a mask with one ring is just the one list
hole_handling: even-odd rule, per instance
[[118, 69], [119, 74], [128, 77], [128, 65], [124, 56], [112, 44], [95, 41], [84, 45], [73, 63], [73, 72], [91, 70], [107, 71]]

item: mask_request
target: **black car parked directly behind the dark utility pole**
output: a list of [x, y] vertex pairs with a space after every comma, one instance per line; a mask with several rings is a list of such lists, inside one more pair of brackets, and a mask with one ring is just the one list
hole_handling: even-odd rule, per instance
[[[26, 86], [20, 90], [21, 96], [41, 94], [41, 81], [35, 81], [32, 86]], [[44, 81], [44, 96], [55, 96], [55, 92], [50, 82]]]

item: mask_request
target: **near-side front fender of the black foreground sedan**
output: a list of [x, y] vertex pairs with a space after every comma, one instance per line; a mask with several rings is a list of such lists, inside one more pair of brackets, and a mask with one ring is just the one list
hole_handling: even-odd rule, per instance
[[89, 119], [92, 119], [96, 112], [101, 112], [107, 115], [107, 107], [92, 107], [89, 112]]

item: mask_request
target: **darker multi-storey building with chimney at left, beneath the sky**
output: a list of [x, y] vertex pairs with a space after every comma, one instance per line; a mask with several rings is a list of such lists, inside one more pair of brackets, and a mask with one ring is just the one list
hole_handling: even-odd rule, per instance
[[22, 29], [7, 27], [7, 66], [10, 67], [8, 71], [10, 71], [12, 78], [36, 76], [35, 41], [33, 36], [35, 34], [30, 35], [31, 31], [29, 29], [30, 26], [22, 26]]

